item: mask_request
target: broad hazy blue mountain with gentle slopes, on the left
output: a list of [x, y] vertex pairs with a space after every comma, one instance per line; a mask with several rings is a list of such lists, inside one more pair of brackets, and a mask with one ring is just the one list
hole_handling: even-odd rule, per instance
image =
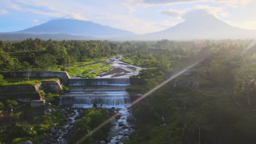
[[102, 26], [91, 21], [80, 21], [73, 19], [57, 19], [43, 23], [42, 25], [24, 29], [19, 32], [26, 34], [60, 34], [82, 35], [85, 37], [114, 38], [135, 35], [132, 32], [124, 31], [109, 26]]

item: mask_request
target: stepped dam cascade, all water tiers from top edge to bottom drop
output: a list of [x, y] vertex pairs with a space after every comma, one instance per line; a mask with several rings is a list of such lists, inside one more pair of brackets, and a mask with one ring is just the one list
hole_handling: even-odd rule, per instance
[[69, 92], [60, 97], [59, 105], [89, 108], [123, 108], [131, 103], [125, 91], [129, 78], [69, 79]]

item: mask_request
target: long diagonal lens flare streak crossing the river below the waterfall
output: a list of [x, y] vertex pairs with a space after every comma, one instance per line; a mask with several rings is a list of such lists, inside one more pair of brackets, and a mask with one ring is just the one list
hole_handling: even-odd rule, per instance
[[[142, 99], [146, 98], [148, 95], [154, 93], [156, 90], [158, 90], [159, 88], [161, 88], [162, 86], [164, 86], [166, 83], [170, 82], [171, 80], [175, 79], [175, 77], [185, 73], [185, 71], [195, 67], [195, 65], [197, 65], [198, 63], [200, 63], [201, 61], [198, 61], [192, 65], [190, 65], [189, 67], [183, 69], [182, 71], [179, 71], [179, 73], [171, 76], [169, 79], [167, 79], [166, 81], [162, 82], [160, 85], [156, 86], [155, 88], [151, 89], [150, 91], [148, 91], [146, 94], [142, 95], [141, 97], [139, 97], [137, 100], [133, 101], [131, 103], [130, 106], [125, 107], [123, 110], [128, 109], [129, 107], [135, 105], [136, 103], [138, 103], [139, 101], [141, 101]], [[114, 119], [115, 117], [117, 117], [119, 115], [119, 113], [115, 113], [115, 115], [113, 115], [112, 117], [108, 118], [106, 121], [104, 121], [103, 123], [101, 123], [100, 125], [98, 125], [98, 127], [96, 127], [94, 130], [91, 131], [90, 134], [85, 135], [82, 139], [80, 139], [79, 141], [77, 141], [77, 143], [82, 143], [85, 139], [87, 139], [90, 135], [94, 134], [98, 129], [101, 129], [102, 127], [104, 127], [104, 125], [106, 125], [107, 123], [109, 123], [110, 121], [112, 121], [112, 119]]]

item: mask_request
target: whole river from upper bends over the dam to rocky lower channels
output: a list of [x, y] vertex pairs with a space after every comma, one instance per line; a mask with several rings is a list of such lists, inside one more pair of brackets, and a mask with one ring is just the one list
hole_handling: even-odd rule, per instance
[[[77, 77], [69, 79], [69, 92], [60, 96], [59, 105], [72, 109], [86, 109], [93, 105], [115, 109], [118, 116], [111, 122], [112, 128], [107, 139], [98, 140], [99, 143], [121, 144], [129, 139], [129, 135], [134, 131], [133, 124], [136, 119], [132, 116], [132, 111], [126, 109], [133, 98], [125, 88], [130, 85], [129, 77], [138, 75], [143, 68], [121, 62], [121, 58], [119, 56], [108, 59], [107, 62], [112, 63], [114, 69], [98, 75], [95, 79]], [[73, 115], [72, 122], [75, 121], [75, 116]], [[69, 127], [69, 124], [64, 127]], [[63, 132], [63, 135], [65, 134], [66, 131]], [[61, 143], [64, 140], [60, 136], [57, 141]]]

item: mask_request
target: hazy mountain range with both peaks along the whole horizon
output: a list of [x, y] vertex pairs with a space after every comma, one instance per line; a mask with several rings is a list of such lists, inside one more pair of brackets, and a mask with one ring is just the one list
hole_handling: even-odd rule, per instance
[[[208, 13], [185, 16], [185, 21], [159, 32], [134, 34], [129, 31], [103, 26], [92, 21], [57, 19], [18, 32], [0, 33], [0, 39], [42, 38], [60, 39], [106, 39], [106, 40], [193, 40], [193, 39], [251, 39], [256, 31], [231, 26]], [[65, 33], [65, 34], [63, 34]], [[13, 35], [13, 36], [12, 36]], [[8, 36], [8, 37], [7, 37]], [[21, 37], [22, 36], [22, 37]], [[67, 37], [67, 38], [65, 38]]]

